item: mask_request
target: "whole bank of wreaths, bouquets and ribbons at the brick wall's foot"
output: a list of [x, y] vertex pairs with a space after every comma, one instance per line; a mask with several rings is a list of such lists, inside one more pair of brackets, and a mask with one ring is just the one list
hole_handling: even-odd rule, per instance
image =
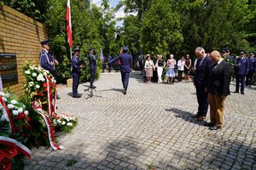
[[27, 63], [23, 73], [25, 95], [17, 99], [0, 92], [0, 169], [4, 170], [23, 169], [32, 147], [61, 150], [54, 132], [70, 133], [78, 122], [74, 116], [56, 114], [56, 84], [49, 71]]

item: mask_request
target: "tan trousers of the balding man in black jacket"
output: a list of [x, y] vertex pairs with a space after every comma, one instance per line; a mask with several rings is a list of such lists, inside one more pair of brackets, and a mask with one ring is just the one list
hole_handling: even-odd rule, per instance
[[224, 101], [225, 96], [208, 94], [208, 101], [210, 105], [210, 119], [217, 127], [222, 127], [224, 116]]

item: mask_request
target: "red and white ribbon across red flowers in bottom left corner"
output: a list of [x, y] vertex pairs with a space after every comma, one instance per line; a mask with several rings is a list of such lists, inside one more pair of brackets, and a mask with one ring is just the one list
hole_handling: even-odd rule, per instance
[[17, 150], [20, 151], [25, 156], [29, 158], [32, 156], [31, 150], [29, 150], [25, 145], [20, 144], [20, 142], [18, 142], [15, 139], [10, 139], [8, 137], [0, 136], [0, 144], [6, 144], [12, 147], [17, 147]]

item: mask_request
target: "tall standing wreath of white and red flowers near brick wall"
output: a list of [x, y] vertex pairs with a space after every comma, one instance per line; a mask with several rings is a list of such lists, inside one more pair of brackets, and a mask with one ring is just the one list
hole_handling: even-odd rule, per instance
[[40, 100], [42, 104], [47, 104], [48, 87], [45, 77], [49, 77], [49, 90], [53, 93], [55, 92], [55, 78], [52, 74], [31, 63], [24, 65], [23, 74], [26, 77], [26, 84], [24, 85], [26, 94], [29, 94], [32, 100]]

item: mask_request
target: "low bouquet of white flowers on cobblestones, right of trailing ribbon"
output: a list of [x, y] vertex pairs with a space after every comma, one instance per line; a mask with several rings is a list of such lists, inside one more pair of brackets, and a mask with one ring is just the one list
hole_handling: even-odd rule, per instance
[[70, 133], [73, 127], [77, 125], [78, 119], [75, 116], [57, 115], [52, 122], [56, 131]]

